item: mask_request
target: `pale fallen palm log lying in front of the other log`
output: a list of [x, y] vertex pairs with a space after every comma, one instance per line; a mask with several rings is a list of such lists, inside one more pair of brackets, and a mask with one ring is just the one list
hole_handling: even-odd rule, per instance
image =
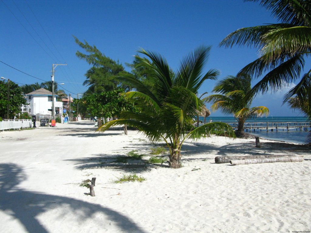
[[241, 159], [230, 160], [232, 165], [256, 164], [256, 163], [269, 163], [269, 162], [302, 162], [303, 157], [279, 157], [279, 158], [254, 158], [254, 159]]

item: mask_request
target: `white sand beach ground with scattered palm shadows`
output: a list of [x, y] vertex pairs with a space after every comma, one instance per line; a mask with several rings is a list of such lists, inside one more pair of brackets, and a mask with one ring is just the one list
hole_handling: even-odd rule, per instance
[[[180, 169], [126, 168], [154, 145], [135, 130], [95, 132], [89, 121], [0, 132], [1, 232], [293, 232], [311, 230], [310, 149], [211, 137], [186, 142]], [[216, 156], [299, 154], [303, 162], [231, 166]], [[128, 164], [144, 164], [128, 160]], [[164, 163], [163, 165], [166, 165]], [[109, 167], [108, 165], [112, 165]], [[143, 182], [115, 184], [136, 172]], [[95, 197], [81, 187], [96, 177]]]

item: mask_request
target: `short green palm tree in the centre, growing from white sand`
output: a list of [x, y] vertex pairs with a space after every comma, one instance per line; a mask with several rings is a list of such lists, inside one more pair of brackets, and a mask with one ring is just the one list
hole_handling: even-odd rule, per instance
[[146, 75], [152, 80], [154, 89], [151, 91], [132, 74], [118, 75], [118, 80], [135, 88], [135, 91], [124, 93], [124, 96], [134, 101], [140, 112], [124, 111], [121, 119], [107, 122], [99, 131], [126, 124], [136, 127], [153, 142], [163, 139], [169, 148], [168, 162], [172, 168], [180, 167], [180, 150], [185, 139], [224, 132], [234, 136], [232, 128], [221, 122], [205, 124], [192, 130], [192, 119], [204, 105], [196, 93], [205, 80], [215, 80], [219, 74], [215, 69], [203, 73], [210, 47], [201, 46], [184, 57], [175, 72], [160, 54], [144, 49], [138, 52], [148, 57], [153, 64], [139, 56], [134, 58], [137, 67], [150, 68], [146, 69]]

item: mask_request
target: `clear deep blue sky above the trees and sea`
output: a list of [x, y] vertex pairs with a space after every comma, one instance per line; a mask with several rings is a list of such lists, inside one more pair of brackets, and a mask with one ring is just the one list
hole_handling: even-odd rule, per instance
[[[276, 20], [258, 3], [243, 0], [0, 0], [0, 61], [47, 81], [51, 80], [52, 64], [66, 62], [67, 66], [56, 68], [55, 81], [65, 83], [60, 88], [77, 97], [87, 89], [82, 83], [91, 66], [76, 57], [76, 51], [83, 50], [72, 35], [123, 65], [132, 62], [140, 47], [156, 51], [174, 70], [183, 56], [205, 44], [212, 46], [206, 71], [220, 70], [221, 79], [236, 75], [258, 52], [218, 48], [219, 42], [234, 30], [265, 23]], [[1, 62], [0, 76], [21, 84], [42, 82]], [[200, 92], [211, 93], [214, 84], [206, 81]], [[281, 106], [285, 92], [258, 96], [253, 106], [268, 107], [273, 117], [301, 116]], [[223, 116], [219, 111], [212, 114]]]

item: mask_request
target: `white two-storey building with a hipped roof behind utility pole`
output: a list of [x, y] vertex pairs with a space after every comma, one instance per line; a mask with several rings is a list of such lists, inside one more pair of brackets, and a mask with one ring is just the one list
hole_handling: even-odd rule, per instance
[[[54, 108], [55, 114], [63, 113], [63, 102], [56, 101], [56, 95], [54, 95]], [[27, 99], [27, 112], [29, 115], [49, 114], [52, 115], [52, 92], [40, 88], [25, 95]]]

